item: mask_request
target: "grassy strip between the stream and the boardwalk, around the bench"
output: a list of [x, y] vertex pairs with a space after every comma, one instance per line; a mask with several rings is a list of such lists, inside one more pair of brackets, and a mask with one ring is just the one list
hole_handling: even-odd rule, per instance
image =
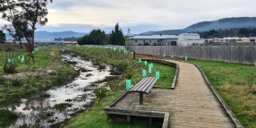
[[[111, 91], [108, 91], [106, 95], [100, 95], [97, 98], [97, 103], [93, 107], [90, 107], [86, 112], [77, 115], [72, 118], [68, 123], [68, 128], [80, 128], [80, 127], [90, 127], [90, 128], [148, 128], [156, 127], [156, 125], [149, 125], [148, 120], [133, 120], [131, 124], [127, 123], [108, 123], [107, 116], [104, 113], [104, 107], [107, 107], [115, 98], [124, 93], [125, 90], [125, 80], [131, 80], [132, 84], [135, 85], [142, 78], [142, 70], [148, 70], [148, 65], [139, 63], [136, 60], [132, 60], [132, 54], [128, 55], [122, 54], [118, 51], [113, 51], [111, 49], [102, 48], [89, 48], [89, 47], [76, 47], [71, 50], [74, 55], [81, 55], [84, 58], [96, 59], [100, 62], [106, 64], [112, 64], [117, 67], [117, 72], [124, 74], [124, 77], [116, 79], [107, 79], [107, 84], [109, 85]], [[150, 63], [149, 63], [150, 64]], [[163, 64], [154, 64], [152, 73], [147, 72], [147, 76], [155, 76], [155, 72], [160, 72], [160, 80], [157, 82], [156, 86], [171, 87], [172, 81], [175, 76], [175, 68]], [[119, 73], [118, 73], [119, 74]], [[97, 93], [98, 90], [96, 90]], [[95, 101], [96, 102], [96, 101]]]

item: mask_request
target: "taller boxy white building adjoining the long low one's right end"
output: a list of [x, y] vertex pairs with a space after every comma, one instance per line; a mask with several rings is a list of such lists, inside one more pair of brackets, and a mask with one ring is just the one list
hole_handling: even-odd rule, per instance
[[204, 38], [200, 38], [197, 33], [182, 33], [177, 40], [177, 46], [199, 46], [205, 43]]

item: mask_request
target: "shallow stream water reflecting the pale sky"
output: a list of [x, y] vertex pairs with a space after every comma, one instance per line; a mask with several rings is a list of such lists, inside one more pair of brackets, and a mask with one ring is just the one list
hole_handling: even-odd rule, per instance
[[[80, 76], [74, 81], [64, 86], [47, 90], [46, 93], [50, 95], [49, 98], [34, 100], [23, 98], [21, 99], [21, 104], [9, 106], [9, 110], [21, 113], [21, 117], [10, 127], [19, 127], [24, 124], [49, 127], [51, 124], [60, 123], [65, 119], [71, 118], [71, 115], [77, 110], [86, 109], [86, 106], [90, 105], [92, 100], [96, 98], [93, 90], [104, 86], [106, 83], [103, 82], [97, 86], [89, 85], [92, 82], [101, 81], [110, 76], [110, 66], [107, 64], [101, 64], [101, 66], [106, 66], [102, 70], [99, 65], [92, 64], [91, 61], [84, 61], [80, 57], [72, 57], [71, 55], [63, 55], [63, 61], [75, 62], [73, 64], [75, 70], [84, 68], [89, 72], [81, 72]], [[72, 106], [62, 111], [55, 110], [53, 107], [60, 103], [69, 103]]]

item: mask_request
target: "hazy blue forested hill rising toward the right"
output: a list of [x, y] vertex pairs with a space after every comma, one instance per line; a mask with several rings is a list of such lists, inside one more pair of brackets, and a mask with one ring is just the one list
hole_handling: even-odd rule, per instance
[[195, 31], [209, 31], [209, 30], [226, 30], [232, 28], [256, 28], [256, 17], [237, 17], [237, 18], [225, 18], [218, 21], [202, 21], [183, 29], [183, 30], [162, 30], [162, 31], [148, 31], [141, 33], [141, 35], [158, 35], [158, 34], [170, 34], [178, 35], [183, 32], [195, 32]]

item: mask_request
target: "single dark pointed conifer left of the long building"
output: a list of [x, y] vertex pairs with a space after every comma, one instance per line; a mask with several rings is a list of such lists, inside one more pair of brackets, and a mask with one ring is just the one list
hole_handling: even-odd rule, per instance
[[119, 45], [119, 46], [125, 45], [124, 34], [123, 34], [123, 31], [119, 28], [118, 22], [115, 24], [115, 30], [112, 30], [112, 33], [110, 35], [110, 43], [112, 45]]

